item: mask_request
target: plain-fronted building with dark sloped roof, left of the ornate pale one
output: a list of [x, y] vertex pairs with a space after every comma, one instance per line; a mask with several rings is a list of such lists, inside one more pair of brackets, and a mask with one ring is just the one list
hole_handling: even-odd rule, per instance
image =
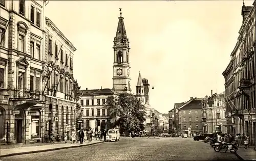
[[190, 97], [189, 101], [177, 109], [179, 115], [179, 132], [187, 133], [188, 136], [190, 136], [191, 133], [199, 134], [203, 132], [201, 101], [202, 98]]

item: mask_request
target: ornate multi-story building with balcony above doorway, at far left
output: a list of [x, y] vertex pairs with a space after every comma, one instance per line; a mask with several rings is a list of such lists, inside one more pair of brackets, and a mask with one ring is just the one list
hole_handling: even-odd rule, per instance
[[[0, 3], [0, 140], [4, 143], [44, 141], [50, 128], [45, 106], [54, 98], [44, 92], [48, 63], [45, 5], [46, 1]], [[58, 39], [65, 37], [60, 33]], [[72, 105], [74, 110], [74, 101]]]

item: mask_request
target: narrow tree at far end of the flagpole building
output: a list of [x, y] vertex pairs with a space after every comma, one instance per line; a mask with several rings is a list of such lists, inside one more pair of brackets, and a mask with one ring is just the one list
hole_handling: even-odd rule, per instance
[[82, 111], [81, 111], [81, 105], [80, 105], [80, 98], [82, 95], [82, 91], [80, 91], [81, 87], [78, 85], [77, 81], [74, 82], [75, 83], [75, 89], [74, 89], [74, 100], [76, 102], [76, 121], [80, 121], [82, 120]]

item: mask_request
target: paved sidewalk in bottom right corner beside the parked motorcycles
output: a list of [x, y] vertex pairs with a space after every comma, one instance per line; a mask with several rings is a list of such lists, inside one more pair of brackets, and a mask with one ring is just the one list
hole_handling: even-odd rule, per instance
[[236, 155], [241, 160], [256, 160], [256, 151], [253, 150], [254, 146], [250, 146], [247, 149], [240, 147]]

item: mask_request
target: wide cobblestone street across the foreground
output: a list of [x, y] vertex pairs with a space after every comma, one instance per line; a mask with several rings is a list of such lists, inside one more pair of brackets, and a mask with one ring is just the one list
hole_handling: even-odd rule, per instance
[[232, 153], [215, 152], [209, 144], [191, 138], [121, 138], [119, 142], [24, 154], [9, 160], [239, 160]]

